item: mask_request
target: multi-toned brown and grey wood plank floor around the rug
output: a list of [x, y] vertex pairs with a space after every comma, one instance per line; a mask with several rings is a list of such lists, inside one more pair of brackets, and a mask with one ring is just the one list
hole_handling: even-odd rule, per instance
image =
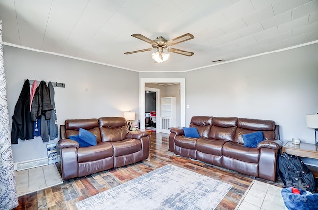
[[[152, 133], [150, 157], [139, 163], [64, 181], [63, 184], [20, 196], [14, 210], [77, 210], [75, 203], [132, 180], [166, 164], [173, 164], [233, 185], [216, 210], [234, 210], [253, 177], [168, 151], [168, 134]], [[61, 170], [60, 164], [57, 164]], [[268, 182], [257, 178], [258, 181]], [[273, 183], [272, 183], [273, 184]], [[274, 183], [280, 185], [280, 183]]]

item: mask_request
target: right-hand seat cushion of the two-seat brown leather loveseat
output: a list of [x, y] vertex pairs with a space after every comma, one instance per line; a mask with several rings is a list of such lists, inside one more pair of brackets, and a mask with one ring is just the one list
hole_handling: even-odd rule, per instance
[[111, 142], [114, 148], [114, 156], [122, 156], [141, 151], [141, 141], [138, 139], [124, 139]]

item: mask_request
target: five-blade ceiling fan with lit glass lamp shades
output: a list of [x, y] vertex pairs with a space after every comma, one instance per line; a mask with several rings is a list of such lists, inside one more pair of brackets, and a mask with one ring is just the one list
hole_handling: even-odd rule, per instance
[[[151, 40], [151, 39], [149, 39], [141, 34], [132, 34], [131, 36], [133, 36], [137, 39], [140, 39], [144, 42], [147, 42], [147, 43], [151, 44], [154, 49], [157, 49], [156, 53], [155, 52], [152, 53], [152, 58], [155, 60], [155, 63], [161, 63], [169, 58], [170, 54], [166, 54], [165, 52], [163, 52], [164, 48], [168, 52], [182, 54], [182, 55], [189, 56], [189, 57], [194, 54], [194, 52], [188, 52], [188, 51], [184, 51], [184, 50], [170, 47], [172, 45], [176, 45], [176, 44], [179, 44], [181, 42], [185, 42], [185, 41], [188, 41], [190, 39], [193, 39], [194, 36], [190, 33], [183, 34], [183, 35], [176, 37], [174, 39], [171, 39], [169, 41], [164, 39], [162, 36], [159, 36], [154, 40]], [[153, 50], [153, 49], [147, 48], [147, 49], [138, 50], [138, 51], [125, 52], [124, 54], [133, 54], [133, 53], [137, 53], [137, 52], [144, 52], [144, 51], [151, 51], [151, 50]]]

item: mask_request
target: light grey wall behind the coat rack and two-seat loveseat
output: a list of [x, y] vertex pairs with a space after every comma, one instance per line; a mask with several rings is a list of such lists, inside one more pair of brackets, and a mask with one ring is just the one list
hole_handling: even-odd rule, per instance
[[[54, 88], [58, 125], [66, 119], [123, 117], [124, 111], [139, 115], [137, 72], [10, 46], [4, 46], [4, 65], [10, 125], [24, 79], [66, 84]], [[47, 157], [46, 144], [40, 137], [19, 140], [12, 145], [14, 162]]]

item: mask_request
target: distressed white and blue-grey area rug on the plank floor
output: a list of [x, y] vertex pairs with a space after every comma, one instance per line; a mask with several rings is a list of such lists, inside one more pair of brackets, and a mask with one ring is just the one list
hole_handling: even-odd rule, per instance
[[76, 206], [79, 210], [213, 210], [231, 187], [169, 164]]

